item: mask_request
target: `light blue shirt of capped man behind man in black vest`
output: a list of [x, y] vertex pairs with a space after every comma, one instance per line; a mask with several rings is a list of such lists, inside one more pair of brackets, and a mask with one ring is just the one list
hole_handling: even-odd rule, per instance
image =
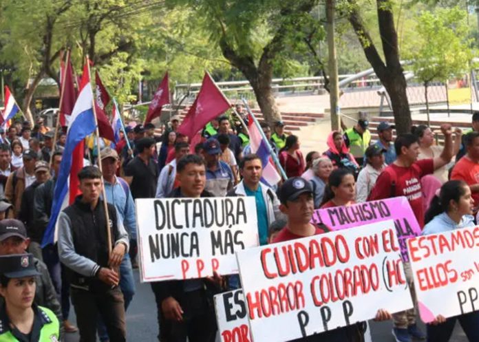
[[123, 225], [127, 230], [130, 239], [136, 240], [136, 215], [135, 215], [135, 202], [131, 196], [131, 191], [128, 193], [123, 188], [118, 178], [115, 177], [115, 183], [111, 184], [105, 181], [105, 193], [107, 195], [107, 202], [115, 206], [116, 210], [120, 214]]

